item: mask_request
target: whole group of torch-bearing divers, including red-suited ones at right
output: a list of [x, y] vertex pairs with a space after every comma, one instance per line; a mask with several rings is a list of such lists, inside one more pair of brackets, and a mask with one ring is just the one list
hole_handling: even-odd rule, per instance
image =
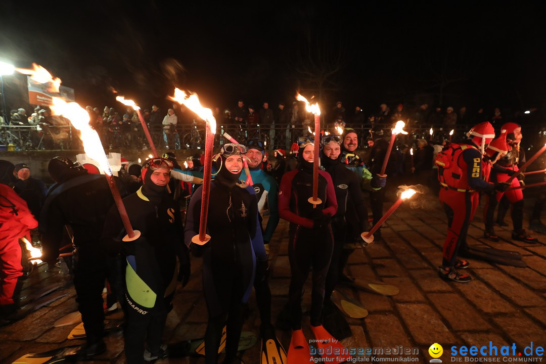
[[[466, 231], [480, 192], [488, 196], [487, 216], [507, 188], [517, 184], [517, 178], [507, 181], [518, 168], [521, 128], [514, 124], [502, 130], [495, 139], [491, 124], [478, 124], [468, 133], [468, 140], [460, 144], [447, 142], [436, 158], [440, 201], [449, 224], [438, 271], [443, 279], [471, 281], [461, 272], [469, 262], [458, 256], [486, 259], [501, 254], [500, 250], [492, 249], [488, 255], [468, 247]], [[49, 190], [40, 214], [42, 259], [58, 259], [65, 225], [69, 225], [75, 247], [74, 287], [86, 343], [68, 351], [60, 348], [34, 361], [26, 356], [27, 361], [18, 362], [86, 360], [104, 353], [105, 281], [110, 288], [106, 306], [117, 301], [123, 307], [124, 353], [129, 364], [191, 355], [195, 349], [192, 341], [170, 345], [162, 342], [177, 282], [184, 287], [190, 277], [190, 254], [203, 259], [208, 322], [201, 343], [206, 344], [206, 363], [217, 363], [221, 353], [225, 353], [223, 363], [242, 362], [238, 352], [252, 288], [259, 309], [262, 363], [309, 362], [313, 359], [310, 341], [322, 360], [351, 360], [354, 353], [339, 341], [351, 336], [344, 318], [352, 317], [347, 307], [358, 308], [359, 303], [347, 296], [340, 299], [336, 287], [348, 284], [370, 289], [364, 287], [365, 281], [345, 275], [352, 250], [344, 247], [360, 240], [361, 232], [370, 230], [363, 192], [370, 193], [374, 222], [381, 218], [387, 176], [378, 172], [383, 164], [380, 155], [370, 169], [359, 158], [355, 130], [346, 128], [342, 135], [321, 135], [317, 143], [314, 139], [313, 135], [298, 139], [298, 164], [286, 172], [282, 150], [275, 151], [277, 162], [272, 171], [264, 168], [263, 141], [224, 144], [212, 158], [206, 229], [200, 226], [203, 169], [196, 165], [193, 170], [183, 170], [171, 153], [146, 160], [140, 171], [141, 182], [133, 189], [136, 192], [123, 198], [130, 225], [139, 232], [136, 240], [127, 238], [104, 176], [88, 173], [79, 163], [64, 157], [52, 159], [48, 170], [56, 184]], [[318, 178], [313, 177], [316, 147], [321, 164]], [[523, 210], [519, 202], [523, 199], [521, 189], [514, 191], [519, 194], [508, 192], [513, 210], [520, 205]], [[318, 201], [311, 203], [313, 193]], [[266, 215], [269, 218], [265, 222]], [[514, 212], [512, 217], [520, 218]], [[291, 276], [288, 300], [274, 325], [268, 283], [269, 243], [280, 218], [289, 222]], [[486, 234], [495, 238], [488, 222], [489, 217]], [[513, 238], [533, 241], [518, 224], [514, 221]], [[204, 240], [200, 234], [203, 231]], [[311, 307], [307, 313], [314, 336], [311, 340], [302, 330], [301, 307], [310, 271]], [[377, 288], [381, 284], [377, 282], [375, 288], [379, 293], [389, 294], [385, 292], [396, 289], [384, 285], [382, 292]], [[345, 302], [338, 305], [340, 300]], [[288, 350], [277, 339], [275, 329], [292, 331]]]

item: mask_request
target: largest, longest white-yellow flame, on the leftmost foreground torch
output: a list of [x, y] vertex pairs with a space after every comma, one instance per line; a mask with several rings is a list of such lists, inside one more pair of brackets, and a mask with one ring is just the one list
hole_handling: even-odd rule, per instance
[[97, 132], [89, 126], [89, 114], [85, 109], [76, 103], [67, 103], [61, 98], [54, 97], [53, 105], [50, 106], [52, 114], [62, 115], [70, 120], [74, 128], [80, 130], [80, 139], [84, 143], [84, 151], [91, 159], [97, 161], [100, 168], [107, 175], [112, 175], [112, 170], [102, 142]]

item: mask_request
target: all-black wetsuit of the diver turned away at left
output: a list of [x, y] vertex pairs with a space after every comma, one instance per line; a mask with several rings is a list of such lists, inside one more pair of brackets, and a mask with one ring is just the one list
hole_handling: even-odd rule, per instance
[[84, 171], [50, 189], [40, 216], [45, 261], [57, 258], [64, 225], [70, 225], [74, 232], [74, 288], [90, 344], [103, 337], [102, 291], [108, 265], [100, 235], [106, 213], [113, 204], [106, 177]]

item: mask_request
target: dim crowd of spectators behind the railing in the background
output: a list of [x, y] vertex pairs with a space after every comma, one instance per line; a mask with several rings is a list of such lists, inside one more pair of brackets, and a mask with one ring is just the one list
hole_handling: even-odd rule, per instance
[[[120, 111], [121, 108], [105, 106], [101, 111], [87, 106], [86, 110], [90, 115], [90, 125], [97, 130], [105, 148], [147, 147], [139, 117], [132, 108]], [[46, 106], [37, 106], [30, 116], [24, 108], [11, 110], [10, 114], [9, 126], [26, 127], [26, 143], [32, 146], [31, 149], [72, 149], [81, 146], [78, 140], [73, 140], [77, 138], [73, 138], [69, 121], [63, 117], [52, 116]], [[457, 109], [453, 106], [431, 108], [426, 103], [413, 108], [406, 108], [401, 103], [392, 106], [383, 103], [376, 111], [366, 113], [359, 106], [353, 112], [348, 111], [338, 101], [333, 109], [323, 110], [322, 114], [323, 125], [327, 128], [348, 126], [359, 130], [367, 129], [367, 136], [370, 138], [388, 133], [390, 126], [399, 120], [406, 122], [407, 128], [422, 130], [433, 126], [447, 130], [464, 128], [483, 121], [499, 126], [508, 121], [521, 124], [525, 121], [537, 123], [544, 120], [537, 109], [504, 115], [500, 108], [468, 111], [466, 106]], [[313, 115], [305, 110], [305, 105], [295, 101], [279, 102], [274, 107], [264, 102], [258, 109], [253, 104], [246, 105], [244, 100], [239, 100], [233, 108], [225, 108], [223, 111], [219, 107], [214, 108], [213, 115], [222, 131], [228, 131], [241, 142], [248, 138], [263, 139], [270, 149], [289, 148], [313, 123]], [[192, 128], [200, 130], [203, 128], [202, 124], [196, 123], [198, 117], [183, 105], [174, 103], [167, 110], [152, 105], [151, 109], [143, 110], [143, 117], [157, 146], [181, 149], [204, 145], [202, 130], [191, 134]], [[6, 125], [3, 121], [2, 124]], [[9, 138], [5, 135], [0, 135], [0, 138], [3, 139], [3, 144], [8, 144], [5, 139]]]

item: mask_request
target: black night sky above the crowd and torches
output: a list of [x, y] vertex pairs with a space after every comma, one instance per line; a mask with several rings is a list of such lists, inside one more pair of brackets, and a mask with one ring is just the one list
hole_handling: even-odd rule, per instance
[[[383, 102], [546, 109], [544, 5], [476, 3], [4, 1], [0, 60], [41, 64], [101, 110], [122, 109], [111, 87], [150, 108], [174, 86], [221, 108], [288, 102], [301, 89], [326, 110], [337, 100], [366, 112]], [[331, 73], [322, 89], [319, 73]], [[22, 79], [4, 77], [11, 109]]]

